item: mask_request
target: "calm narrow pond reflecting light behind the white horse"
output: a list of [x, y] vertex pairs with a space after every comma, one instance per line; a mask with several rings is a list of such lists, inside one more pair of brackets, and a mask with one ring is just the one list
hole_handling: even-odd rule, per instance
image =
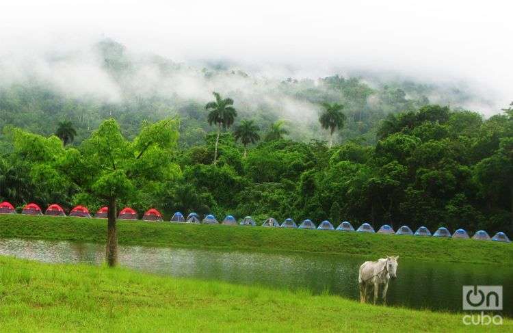
[[[308, 289], [359, 299], [358, 267], [363, 258], [328, 254], [261, 253], [120, 246], [124, 267], [155, 274], [259, 284], [281, 289]], [[101, 244], [68, 241], [0, 239], [0, 255], [45, 263], [103, 263]], [[389, 304], [433, 310], [462, 310], [462, 285], [503, 286], [503, 314], [513, 317], [513, 269], [492, 265], [436, 263], [399, 258]]]

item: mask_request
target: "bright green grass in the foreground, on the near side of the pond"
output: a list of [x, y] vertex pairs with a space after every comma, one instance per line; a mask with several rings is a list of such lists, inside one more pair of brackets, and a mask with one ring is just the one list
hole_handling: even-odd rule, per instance
[[[456, 332], [462, 314], [0, 256], [0, 332]], [[513, 330], [473, 326], [490, 332]]]

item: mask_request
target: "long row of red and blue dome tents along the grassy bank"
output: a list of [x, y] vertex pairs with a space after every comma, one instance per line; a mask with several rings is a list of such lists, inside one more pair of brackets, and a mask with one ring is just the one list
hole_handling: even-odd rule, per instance
[[[96, 214], [94, 214], [94, 217], [97, 218], [107, 218], [107, 213], [109, 212], [108, 207], [101, 207], [101, 209], [98, 209]], [[9, 202], [1, 202], [0, 203], [0, 213], [3, 214], [13, 214], [16, 213], [16, 210], [10, 204]], [[27, 215], [43, 215], [41, 208], [34, 203], [26, 204], [25, 207], [23, 207], [23, 210], [21, 212], [22, 214]], [[51, 215], [51, 216], [66, 216], [66, 213], [64, 213], [64, 209], [60, 207], [58, 204], [51, 204], [46, 211], [44, 211], [44, 215]], [[75, 216], [75, 217], [91, 217], [89, 210], [86, 207], [83, 206], [77, 206], [74, 207], [70, 213], [69, 216]], [[137, 212], [130, 207], [126, 207], [122, 209], [118, 215], [118, 219], [137, 219]], [[157, 209], [148, 209], [146, 213], [144, 213], [142, 219], [144, 221], [163, 221], [162, 214], [157, 211]], [[195, 224], [219, 224], [218, 219], [215, 218], [214, 215], [209, 214], [206, 215], [204, 219], [200, 219], [200, 216], [196, 213], [190, 213], [187, 215], [187, 217], [184, 217], [182, 213], [179, 211], [174, 213], [173, 216], [170, 219], [170, 222], [177, 222], [177, 223], [195, 223]], [[237, 220], [232, 215], [227, 215], [222, 220], [221, 224], [228, 225], [228, 226], [257, 226], [257, 222], [252, 219], [250, 216], [244, 217], [240, 223], [237, 223]], [[333, 224], [329, 221], [323, 221], [319, 226], [315, 226], [315, 224], [312, 222], [311, 219], [305, 219], [299, 226], [294, 222], [293, 219], [288, 218], [285, 219], [282, 224], [278, 223], [276, 219], [273, 217], [269, 217], [265, 220], [265, 222], [262, 224], [264, 227], [276, 227], [276, 228], [298, 228], [298, 229], [317, 229], [317, 230], [341, 230], [341, 231], [355, 231], [352, 224], [350, 222], [344, 221], [337, 228], [334, 228]], [[374, 228], [368, 224], [364, 223], [361, 226], [356, 229], [357, 232], [376, 232]], [[453, 234], [449, 232], [447, 228], [441, 227], [438, 228], [432, 234], [428, 228], [425, 226], [421, 226], [420, 228], [415, 231], [415, 233], [410, 229], [409, 226], [401, 226], [397, 229], [397, 231], [393, 230], [391, 226], [388, 224], [384, 224], [381, 226], [381, 228], [378, 230], [377, 233], [380, 234], [395, 234], [395, 235], [415, 235], [415, 236], [433, 236], [433, 237], [449, 237], [449, 238], [461, 238], [461, 239], [469, 239], [469, 234], [464, 229], [458, 229]], [[479, 230], [475, 232], [472, 239], [482, 240], [482, 241], [503, 241], [503, 242], [510, 242], [510, 239], [507, 235], [505, 235], [504, 232], [497, 232], [497, 234], [494, 235], [494, 237], [490, 237], [488, 235], [488, 232], [485, 230]]]

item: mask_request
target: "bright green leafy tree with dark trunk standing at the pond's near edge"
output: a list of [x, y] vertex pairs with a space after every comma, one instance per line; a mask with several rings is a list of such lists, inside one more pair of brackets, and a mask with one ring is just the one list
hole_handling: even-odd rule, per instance
[[105, 120], [78, 148], [66, 150], [60, 170], [84, 195], [107, 202], [106, 261], [118, 261], [116, 209], [118, 200], [135, 200], [141, 191], [165, 187], [179, 172], [172, 163], [178, 140], [178, 122], [168, 119], [143, 123], [129, 142], [114, 119]]

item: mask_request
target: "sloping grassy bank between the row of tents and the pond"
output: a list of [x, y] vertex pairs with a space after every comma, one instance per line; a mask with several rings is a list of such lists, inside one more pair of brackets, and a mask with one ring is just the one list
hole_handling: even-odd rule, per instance
[[[511, 243], [472, 239], [141, 221], [119, 221], [118, 228], [119, 243], [126, 245], [358, 254], [369, 258], [389, 254], [418, 260], [513, 264]], [[105, 243], [106, 230], [105, 219], [0, 215], [3, 238]]]

